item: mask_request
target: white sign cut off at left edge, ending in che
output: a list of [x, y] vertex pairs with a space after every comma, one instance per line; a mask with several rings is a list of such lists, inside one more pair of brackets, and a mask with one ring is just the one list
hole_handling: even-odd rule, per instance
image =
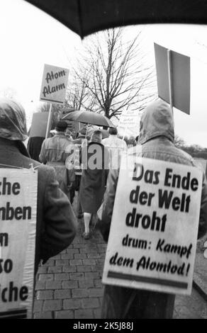
[[0, 169], [0, 318], [31, 318], [38, 172]]

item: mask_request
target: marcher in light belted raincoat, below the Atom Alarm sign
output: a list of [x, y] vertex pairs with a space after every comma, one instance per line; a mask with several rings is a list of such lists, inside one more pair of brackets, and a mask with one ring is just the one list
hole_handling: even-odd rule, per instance
[[73, 198], [70, 196], [70, 189], [72, 189], [75, 180], [73, 166], [74, 146], [65, 136], [66, 129], [67, 123], [65, 121], [60, 120], [57, 122], [55, 127], [56, 134], [54, 137], [43, 141], [39, 159], [40, 162], [55, 169], [60, 188], [72, 203]]

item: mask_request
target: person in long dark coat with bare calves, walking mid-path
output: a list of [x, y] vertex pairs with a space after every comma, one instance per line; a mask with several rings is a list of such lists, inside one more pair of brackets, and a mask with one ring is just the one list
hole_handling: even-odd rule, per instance
[[83, 174], [79, 200], [84, 212], [84, 239], [89, 239], [91, 214], [96, 214], [101, 206], [108, 176], [109, 152], [101, 140], [101, 131], [95, 130], [89, 145], [82, 148]]

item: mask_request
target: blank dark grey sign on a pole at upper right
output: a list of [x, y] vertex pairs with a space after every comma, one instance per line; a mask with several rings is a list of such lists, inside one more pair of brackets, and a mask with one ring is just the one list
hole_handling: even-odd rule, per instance
[[[158, 95], [169, 103], [167, 48], [155, 45]], [[191, 63], [190, 57], [171, 50], [173, 106], [190, 114]]]

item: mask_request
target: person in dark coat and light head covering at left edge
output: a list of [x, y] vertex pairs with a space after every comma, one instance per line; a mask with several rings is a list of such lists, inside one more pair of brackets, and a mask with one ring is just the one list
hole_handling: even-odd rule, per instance
[[0, 167], [38, 171], [35, 238], [35, 274], [43, 264], [72, 243], [77, 220], [67, 196], [60, 190], [55, 170], [30, 159], [23, 141], [27, 138], [26, 114], [20, 103], [0, 98]]

